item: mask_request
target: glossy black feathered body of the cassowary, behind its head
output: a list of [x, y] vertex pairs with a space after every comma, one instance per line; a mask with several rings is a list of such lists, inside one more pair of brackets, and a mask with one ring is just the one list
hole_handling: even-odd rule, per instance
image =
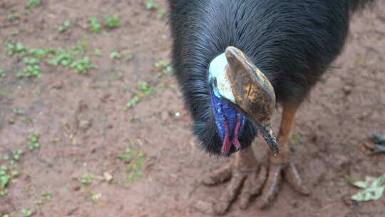
[[[212, 59], [237, 47], [270, 80], [279, 103], [298, 104], [342, 51], [351, 14], [368, 1], [168, 0], [175, 76], [202, 146], [220, 152], [207, 81]], [[255, 135], [247, 122], [242, 147]]]

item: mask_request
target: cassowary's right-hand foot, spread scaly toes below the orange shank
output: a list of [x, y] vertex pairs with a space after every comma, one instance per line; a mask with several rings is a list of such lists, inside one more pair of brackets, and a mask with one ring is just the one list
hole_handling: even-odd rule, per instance
[[262, 189], [262, 196], [259, 199], [258, 206], [260, 208], [267, 208], [270, 206], [274, 197], [277, 195], [279, 183], [282, 181], [282, 176], [289, 183], [292, 188], [301, 193], [304, 196], [309, 195], [309, 190], [299, 176], [297, 166], [291, 161], [284, 163], [277, 163], [274, 160], [270, 160], [269, 172], [267, 175], [267, 181]]

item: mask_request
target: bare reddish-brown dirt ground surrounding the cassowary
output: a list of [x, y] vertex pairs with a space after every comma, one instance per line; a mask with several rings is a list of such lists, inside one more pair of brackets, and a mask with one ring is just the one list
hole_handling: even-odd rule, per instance
[[[25, 47], [8, 56], [12, 48], [0, 45], [0, 166], [9, 174], [0, 216], [207, 216], [193, 205], [225, 191], [197, 185], [229, 158], [196, 148], [168, 67], [167, 6], [145, 3], [43, 0], [28, 9], [27, 1], [0, 0], [1, 41]], [[103, 19], [113, 14], [120, 26], [108, 29]], [[353, 203], [358, 190], [346, 181], [385, 172], [385, 156], [365, 148], [371, 133], [385, 133], [384, 14], [379, 1], [354, 17], [347, 48], [299, 111], [292, 142], [311, 196], [284, 183], [267, 210], [235, 202], [226, 216], [385, 216], [385, 196]], [[51, 53], [41, 57], [40, 78], [16, 76], [33, 55], [26, 51], [59, 47], [96, 69], [48, 64]], [[256, 142], [265, 163], [269, 150]]]

